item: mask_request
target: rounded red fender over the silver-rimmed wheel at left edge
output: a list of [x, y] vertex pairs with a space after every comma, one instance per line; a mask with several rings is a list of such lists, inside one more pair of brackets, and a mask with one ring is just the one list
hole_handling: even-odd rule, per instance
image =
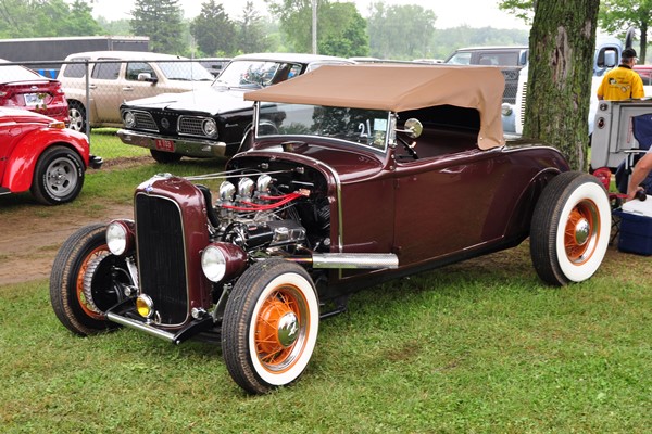
[[74, 150], [84, 161], [84, 167], [88, 167], [89, 148], [85, 135], [71, 129], [42, 128], [25, 135], [8, 155], [2, 186], [12, 192], [29, 190], [38, 158], [55, 144]]

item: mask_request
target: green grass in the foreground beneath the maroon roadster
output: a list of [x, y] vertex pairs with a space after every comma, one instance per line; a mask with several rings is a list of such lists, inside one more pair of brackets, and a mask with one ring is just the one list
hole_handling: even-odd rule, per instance
[[2, 431], [649, 432], [649, 258], [614, 254], [627, 269], [612, 258], [552, 289], [527, 256], [354, 295], [322, 322], [301, 380], [260, 397], [233, 383], [218, 345], [133, 330], [79, 339], [55, 319], [47, 282], [1, 288]]

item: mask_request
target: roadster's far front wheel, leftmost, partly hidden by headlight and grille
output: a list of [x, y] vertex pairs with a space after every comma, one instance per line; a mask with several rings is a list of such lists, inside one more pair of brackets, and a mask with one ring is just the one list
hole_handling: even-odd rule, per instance
[[123, 299], [121, 285], [131, 284], [124, 259], [109, 252], [106, 225], [89, 225], [61, 246], [50, 275], [54, 314], [72, 332], [86, 336], [115, 329], [105, 310]]

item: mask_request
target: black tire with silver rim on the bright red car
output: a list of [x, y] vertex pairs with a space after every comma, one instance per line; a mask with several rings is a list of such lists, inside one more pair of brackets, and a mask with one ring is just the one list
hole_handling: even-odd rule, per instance
[[73, 150], [54, 145], [46, 149], [34, 169], [32, 194], [42, 204], [73, 201], [84, 186], [84, 162]]

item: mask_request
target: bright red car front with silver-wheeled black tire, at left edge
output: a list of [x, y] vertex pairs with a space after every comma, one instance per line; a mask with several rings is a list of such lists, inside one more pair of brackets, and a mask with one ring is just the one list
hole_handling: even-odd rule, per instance
[[70, 202], [82, 191], [86, 168], [101, 164], [89, 155], [87, 137], [63, 122], [0, 107], [0, 195], [29, 190], [47, 205]]

